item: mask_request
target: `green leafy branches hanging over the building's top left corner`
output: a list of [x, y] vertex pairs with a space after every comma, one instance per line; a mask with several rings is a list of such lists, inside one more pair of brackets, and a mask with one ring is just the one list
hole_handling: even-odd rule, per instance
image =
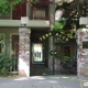
[[[0, 15], [10, 13], [11, 10], [13, 10], [16, 4], [24, 2], [24, 1], [26, 0], [0, 0]], [[40, 0], [28, 0], [28, 1], [36, 3]]]

